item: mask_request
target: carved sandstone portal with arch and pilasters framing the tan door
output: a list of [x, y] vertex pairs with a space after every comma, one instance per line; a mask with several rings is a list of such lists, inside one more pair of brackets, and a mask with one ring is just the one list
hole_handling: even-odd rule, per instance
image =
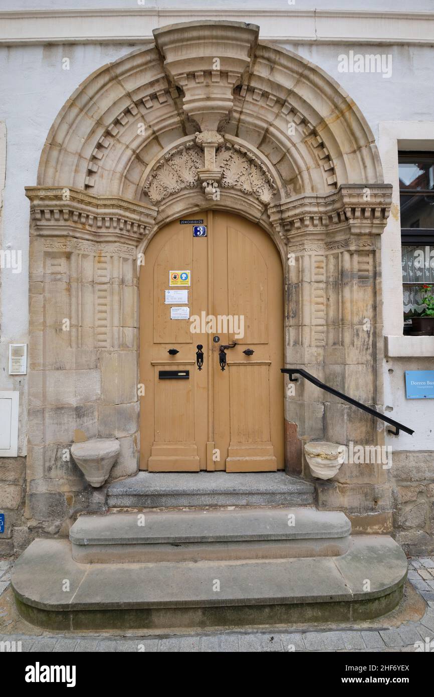
[[[56, 517], [60, 529], [100, 505], [62, 457], [81, 431], [121, 441], [111, 479], [137, 471], [137, 261], [160, 227], [187, 213], [231, 210], [268, 231], [285, 269], [286, 364], [366, 404], [382, 401], [380, 233], [392, 187], [350, 96], [258, 31], [238, 22], [157, 29], [153, 46], [88, 77], [49, 131], [37, 185], [26, 187], [28, 514], [37, 521]], [[371, 418], [332, 406], [311, 385], [286, 399], [289, 470], [301, 471], [303, 438], [381, 441]], [[376, 468], [361, 478], [343, 466], [325, 507], [343, 507], [339, 487], [354, 477], [381, 488]]]

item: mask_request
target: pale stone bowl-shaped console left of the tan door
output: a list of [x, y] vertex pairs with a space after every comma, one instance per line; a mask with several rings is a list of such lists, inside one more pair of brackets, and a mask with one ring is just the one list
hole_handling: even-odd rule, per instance
[[71, 446], [72, 457], [92, 487], [102, 487], [120, 450], [116, 438], [93, 438]]

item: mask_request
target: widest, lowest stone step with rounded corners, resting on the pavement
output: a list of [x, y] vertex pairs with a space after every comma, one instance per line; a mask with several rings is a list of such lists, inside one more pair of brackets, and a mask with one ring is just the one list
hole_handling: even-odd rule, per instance
[[406, 574], [387, 535], [356, 535], [337, 557], [159, 564], [79, 564], [68, 540], [36, 539], [11, 583], [33, 625], [124, 631], [358, 622], [391, 611]]

